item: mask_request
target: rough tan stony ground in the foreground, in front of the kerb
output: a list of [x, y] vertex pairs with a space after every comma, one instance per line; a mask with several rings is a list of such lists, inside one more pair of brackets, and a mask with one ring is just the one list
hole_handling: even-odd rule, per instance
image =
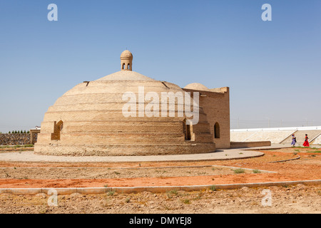
[[[265, 201], [270, 191], [269, 201]], [[0, 195], [0, 213], [321, 213], [321, 186], [248, 188], [153, 194], [58, 195], [58, 206], [48, 206], [49, 196]], [[264, 204], [265, 203], [265, 204]]]

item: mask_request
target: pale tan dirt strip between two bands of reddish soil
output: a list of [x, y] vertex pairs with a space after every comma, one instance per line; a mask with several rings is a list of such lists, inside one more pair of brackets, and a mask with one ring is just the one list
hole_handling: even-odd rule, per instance
[[[138, 177], [190, 177], [203, 175], [233, 175], [237, 168], [218, 167], [165, 167], [141, 169], [117, 168], [1, 168], [0, 178], [8, 179], [107, 179], [107, 178], [138, 178]], [[240, 172], [252, 173], [252, 170]], [[262, 171], [264, 172], [264, 171]]]

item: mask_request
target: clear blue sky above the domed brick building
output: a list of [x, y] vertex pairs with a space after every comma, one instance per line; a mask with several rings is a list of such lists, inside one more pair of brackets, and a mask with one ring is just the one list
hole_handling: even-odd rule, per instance
[[40, 125], [67, 90], [119, 71], [126, 48], [156, 80], [230, 87], [231, 128], [321, 125], [320, 12], [320, 0], [0, 0], [0, 131]]

